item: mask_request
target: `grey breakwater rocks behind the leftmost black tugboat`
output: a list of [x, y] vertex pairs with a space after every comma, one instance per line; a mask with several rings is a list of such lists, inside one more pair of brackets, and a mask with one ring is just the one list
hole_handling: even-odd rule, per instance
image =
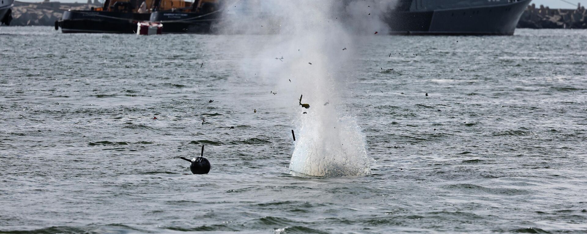
[[[98, 2], [99, 4], [99, 2]], [[90, 8], [97, 8], [96, 2], [88, 2], [87, 4], [73, 4], [60, 2], [14, 2], [12, 7], [12, 22], [11, 26], [53, 26], [55, 21], [63, 16], [64, 11], [72, 10], [87, 10]]]

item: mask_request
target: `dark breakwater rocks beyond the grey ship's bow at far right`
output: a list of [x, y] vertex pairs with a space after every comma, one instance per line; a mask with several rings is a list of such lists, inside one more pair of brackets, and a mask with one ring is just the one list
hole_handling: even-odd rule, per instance
[[548, 6], [529, 5], [518, 21], [518, 28], [575, 28], [587, 29], [585, 6], [577, 9], [550, 9]]

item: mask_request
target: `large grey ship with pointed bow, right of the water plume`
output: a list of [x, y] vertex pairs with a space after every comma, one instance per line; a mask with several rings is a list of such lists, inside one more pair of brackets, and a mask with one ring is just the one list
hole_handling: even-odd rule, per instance
[[531, 0], [400, 0], [385, 19], [392, 34], [513, 35]]

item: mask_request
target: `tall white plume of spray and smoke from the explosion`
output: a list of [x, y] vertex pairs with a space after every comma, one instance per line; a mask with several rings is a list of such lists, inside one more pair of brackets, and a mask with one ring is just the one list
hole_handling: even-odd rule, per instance
[[[337, 177], [371, 173], [365, 137], [341, 99], [349, 80], [345, 70], [353, 67], [353, 52], [346, 48], [357, 49], [360, 43], [354, 33], [372, 29], [387, 32], [387, 26], [373, 19], [383, 11], [375, 3], [370, 6], [366, 2], [373, 3], [249, 0], [227, 7], [232, 13], [225, 12], [223, 32], [273, 34], [257, 45], [242, 46], [250, 50], [247, 54], [252, 58], [247, 60], [261, 63], [254, 66], [258, 69], [255, 74], [265, 79], [275, 77], [283, 101], [279, 104], [295, 113], [297, 141], [289, 165], [292, 174]], [[357, 11], [370, 7], [375, 12], [373, 18], [367, 14], [359, 17]], [[247, 17], [238, 17], [238, 11], [247, 12]], [[301, 94], [301, 103], [308, 103], [310, 108], [299, 105]]]

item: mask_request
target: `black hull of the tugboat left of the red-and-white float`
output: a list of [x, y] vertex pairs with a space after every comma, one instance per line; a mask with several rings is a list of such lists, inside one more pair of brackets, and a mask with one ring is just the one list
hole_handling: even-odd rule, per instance
[[136, 33], [137, 22], [149, 21], [149, 13], [66, 11], [59, 21], [63, 33]]

